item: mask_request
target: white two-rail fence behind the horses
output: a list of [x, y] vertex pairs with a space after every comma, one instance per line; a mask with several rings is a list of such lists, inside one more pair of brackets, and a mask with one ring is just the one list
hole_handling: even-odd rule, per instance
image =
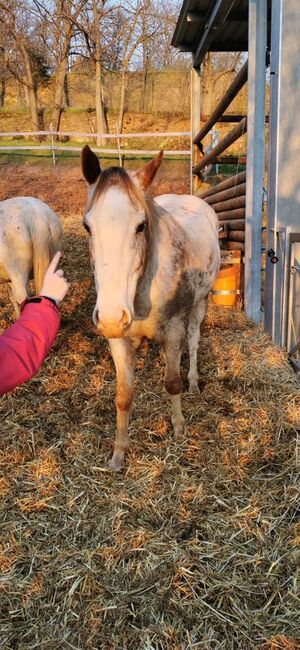
[[[130, 138], [167, 138], [167, 137], [191, 137], [190, 131], [163, 131], [163, 132], [149, 132], [146, 133], [78, 133], [74, 131], [53, 131], [50, 127], [50, 131], [6, 131], [0, 132], [0, 138], [18, 138], [23, 137], [49, 137], [50, 143], [40, 142], [39, 144], [23, 144], [23, 145], [0, 145], [1, 151], [22, 151], [22, 150], [44, 150], [51, 151], [53, 164], [56, 164], [55, 152], [59, 151], [81, 151], [82, 147], [73, 147], [66, 146], [64, 143], [58, 143], [54, 141], [55, 136], [59, 137], [72, 137], [72, 138], [101, 138], [105, 140], [117, 140], [117, 149], [107, 149], [93, 147], [93, 151], [97, 153], [106, 153], [113, 156], [118, 156], [120, 162], [125, 158], [126, 155], [137, 155], [137, 156], [148, 156], [155, 155], [158, 149], [161, 149], [161, 144], [157, 149], [127, 149], [122, 147], [122, 140], [127, 140]], [[164, 153], [166, 156], [190, 156], [190, 149], [165, 149]]]

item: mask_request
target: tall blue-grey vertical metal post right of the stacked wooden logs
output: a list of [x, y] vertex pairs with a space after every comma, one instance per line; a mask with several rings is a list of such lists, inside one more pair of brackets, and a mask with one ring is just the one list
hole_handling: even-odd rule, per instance
[[260, 322], [261, 219], [264, 174], [267, 2], [249, 0], [248, 138], [245, 243], [245, 311]]

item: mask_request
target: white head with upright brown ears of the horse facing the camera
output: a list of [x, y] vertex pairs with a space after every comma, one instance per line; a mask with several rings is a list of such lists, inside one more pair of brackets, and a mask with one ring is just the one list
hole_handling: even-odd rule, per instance
[[137, 283], [145, 268], [151, 216], [144, 192], [162, 160], [161, 151], [142, 169], [103, 171], [89, 146], [82, 150], [82, 171], [88, 183], [84, 227], [94, 269], [97, 301], [94, 324], [107, 338], [126, 335], [134, 319]]

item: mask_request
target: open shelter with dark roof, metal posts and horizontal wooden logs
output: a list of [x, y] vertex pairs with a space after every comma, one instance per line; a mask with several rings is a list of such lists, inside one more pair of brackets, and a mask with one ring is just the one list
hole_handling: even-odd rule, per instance
[[[199, 189], [198, 178], [206, 165], [216, 162], [230, 144], [247, 132], [246, 172], [201, 196], [218, 213], [220, 225], [227, 232], [228, 248], [239, 248], [244, 253], [247, 315], [257, 323], [263, 318], [273, 340], [295, 355], [300, 346], [299, 28], [297, 0], [184, 0], [172, 40], [179, 50], [191, 52], [193, 60], [194, 192]], [[245, 62], [200, 128], [201, 64], [209, 51], [242, 51]], [[269, 64], [270, 116], [266, 119]], [[225, 111], [246, 82], [247, 115], [233, 116], [232, 122], [236, 125], [203, 156], [203, 138], [217, 121], [224, 119]], [[263, 243], [267, 123], [270, 125], [268, 201], [266, 241]], [[263, 283], [262, 252], [266, 259]]]

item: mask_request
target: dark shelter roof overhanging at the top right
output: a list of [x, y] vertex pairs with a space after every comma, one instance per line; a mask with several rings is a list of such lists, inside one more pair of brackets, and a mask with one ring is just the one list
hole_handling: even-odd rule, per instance
[[[248, 4], [249, 0], [184, 0], [172, 45], [192, 52], [194, 67], [207, 52], [247, 51]], [[268, 0], [268, 44], [271, 4]]]

